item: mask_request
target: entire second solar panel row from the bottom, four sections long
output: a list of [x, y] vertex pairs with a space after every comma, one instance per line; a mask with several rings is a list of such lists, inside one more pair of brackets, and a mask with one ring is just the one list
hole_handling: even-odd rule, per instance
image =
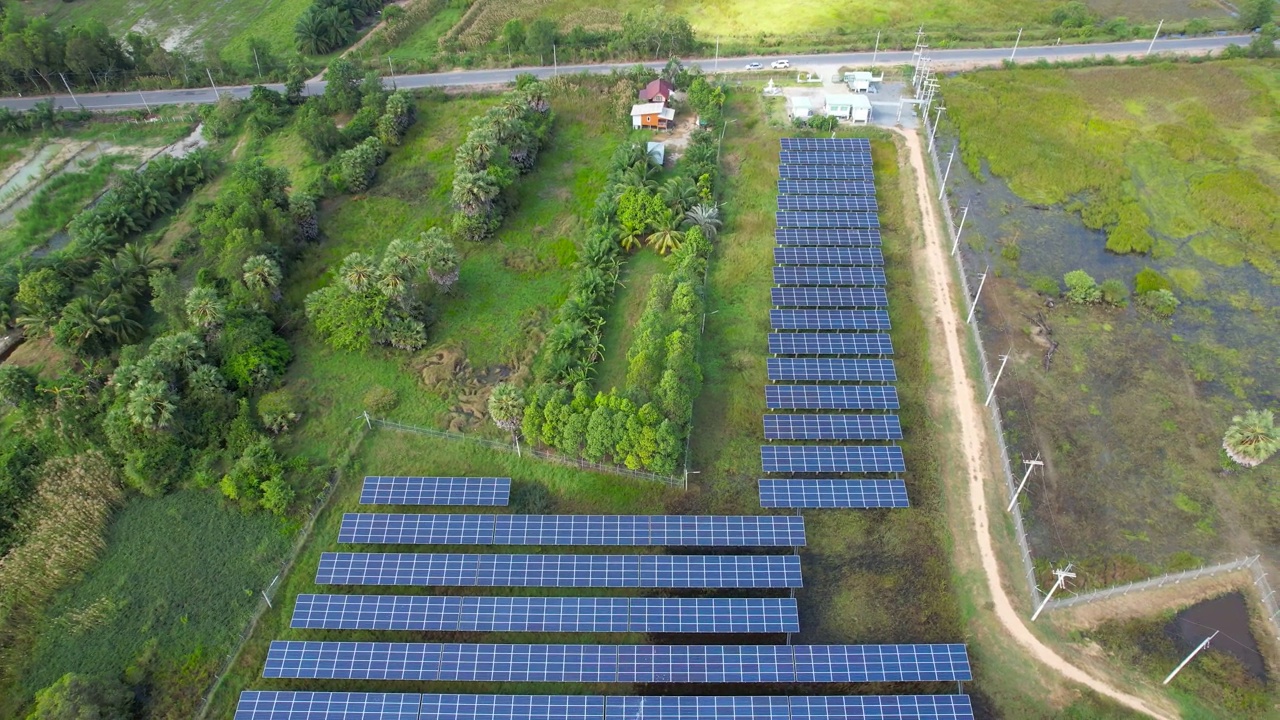
[[639, 646], [273, 641], [264, 678], [548, 683], [966, 682], [963, 644]]

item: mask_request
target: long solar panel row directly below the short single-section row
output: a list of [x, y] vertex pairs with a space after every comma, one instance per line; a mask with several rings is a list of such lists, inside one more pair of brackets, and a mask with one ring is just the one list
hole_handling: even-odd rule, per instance
[[795, 515], [402, 515], [348, 512], [338, 542], [393, 544], [573, 544], [792, 547]]

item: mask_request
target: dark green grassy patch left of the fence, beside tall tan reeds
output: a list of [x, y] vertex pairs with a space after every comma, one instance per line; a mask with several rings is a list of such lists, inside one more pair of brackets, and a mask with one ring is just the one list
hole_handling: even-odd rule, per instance
[[113, 519], [102, 559], [45, 614], [23, 697], [10, 701], [29, 701], [64, 673], [136, 665], [157, 685], [154, 703], [191, 716], [288, 544], [279, 520], [210, 492], [133, 500]]

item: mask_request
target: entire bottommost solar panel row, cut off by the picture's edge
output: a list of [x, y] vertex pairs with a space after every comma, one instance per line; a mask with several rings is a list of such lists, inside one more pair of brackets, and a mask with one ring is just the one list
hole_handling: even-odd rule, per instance
[[969, 696], [499, 696], [244, 691], [234, 720], [972, 720]]

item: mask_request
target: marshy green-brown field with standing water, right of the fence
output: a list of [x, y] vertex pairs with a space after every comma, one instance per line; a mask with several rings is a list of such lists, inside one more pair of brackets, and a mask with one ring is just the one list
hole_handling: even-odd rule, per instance
[[[954, 190], [970, 206], [970, 266], [1004, 275], [983, 314], [988, 352], [1014, 348], [1000, 391], [1009, 439], [1046, 461], [1024, 501], [1032, 552], [1044, 574], [1074, 561], [1078, 589], [1260, 550], [1280, 559], [1280, 464], [1244, 469], [1220, 448], [1231, 416], [1274, 409], [1280, 387], [1277, 68], [1020, 69], [945, 85], [979, 177]], [[1046, 307], [1075, 269], [1111, 281], [1112, 302]], [[1180, 301], [1171, 319], [1128, 301], [1153, 287]]]

